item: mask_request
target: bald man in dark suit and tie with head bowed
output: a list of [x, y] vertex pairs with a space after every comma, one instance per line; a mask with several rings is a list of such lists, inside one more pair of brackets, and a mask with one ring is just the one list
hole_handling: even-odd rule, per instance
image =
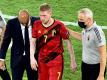
[[10, 19], [7, 22], [0, 50], [0, 68], [4, 66], [7, 49], [12, 40], [10, 55], [12, 80], [22, 80], [25, 70], [28, 80], [38, 80], [37, 72], [32, 71], [30, 67], [29, 51], [32, 25], [38, 19], [38, 17], [31, 17], [27, 10], [21, 10], [18, 17]]

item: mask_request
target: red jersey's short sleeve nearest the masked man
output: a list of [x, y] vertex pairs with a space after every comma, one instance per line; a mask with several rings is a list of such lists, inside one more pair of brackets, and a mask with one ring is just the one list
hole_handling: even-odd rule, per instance
[[69, 32], [65, 28], [65, 25], [63, 23], [61, 23], [61, 26], [60, 26], [60, 35], [63, 39], [68, 39], [69, 38]]

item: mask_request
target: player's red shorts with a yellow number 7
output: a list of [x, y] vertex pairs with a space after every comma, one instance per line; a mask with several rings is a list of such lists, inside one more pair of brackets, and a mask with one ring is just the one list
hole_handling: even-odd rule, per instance
[[43, 63], [38, 60], [39, 80], [62, 80], [63, 57], [58, 55], [54, 60]]

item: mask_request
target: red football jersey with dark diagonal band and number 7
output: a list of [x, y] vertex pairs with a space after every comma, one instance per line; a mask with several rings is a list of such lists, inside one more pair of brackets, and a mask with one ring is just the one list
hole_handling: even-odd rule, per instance
[[34, 23], [32, 37], [37, 39], [37, 49], [40, 55], [46, 56], [51, 52], [62, 53], [64, 51], [62, 39], [68, 39], [69, 32], [58, 20], [54, 20], [54, 23], [47, 28], [38, 20]]

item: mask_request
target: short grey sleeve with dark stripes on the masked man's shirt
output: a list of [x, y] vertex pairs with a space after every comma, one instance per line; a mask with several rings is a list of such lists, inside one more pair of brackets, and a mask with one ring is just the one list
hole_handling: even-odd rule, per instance
[[106, 44], [105, 34], [100, 28], [94, 28], [95, 31], [95, 42], [98, 47]]

